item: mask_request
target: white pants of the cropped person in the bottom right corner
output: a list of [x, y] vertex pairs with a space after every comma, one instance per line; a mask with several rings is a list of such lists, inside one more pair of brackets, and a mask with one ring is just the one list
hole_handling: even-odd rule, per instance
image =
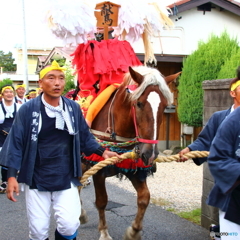
[[225, 219], [224, 216], [225, 212], [219, 210], [221, 240], [240, 240], [240, 225]]

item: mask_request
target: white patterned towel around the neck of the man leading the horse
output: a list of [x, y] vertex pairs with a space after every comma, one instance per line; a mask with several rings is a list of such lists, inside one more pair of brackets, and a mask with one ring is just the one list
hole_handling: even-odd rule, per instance
[[48, 108], [49, 110], [51, 110], [51, 111], [53, 111], [55, 113], [55, 116], [56, 116], [56, 128], [60, 129], [60, 130], [64, 130], [64, 122], [65, 122], [66, 125], [67, 125], [67, 128], [68, 128], [69, 134], [70, 135], [74, 135], [73, 126], [72, 126], [72, 123], [70, 121], [70, 116], [69, 116], [67, 111], [63, 110], [62, 98], [60, 98], [60, 105], [57, 106], [57, 107], [53, 107], [50, 104], [48, 104], [44, 100], [44, 94], [42, 95], [42, 102], [43, 102], [43, 104], [44, 104], [44, 106], [46, 108]]

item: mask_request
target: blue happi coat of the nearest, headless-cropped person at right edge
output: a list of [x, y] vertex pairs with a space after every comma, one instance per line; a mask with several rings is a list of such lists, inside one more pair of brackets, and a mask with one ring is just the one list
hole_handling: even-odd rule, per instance
[[218, 128], [208, 156], [215, 185], [207, 204], [226, 212], [225, 218], [240, 224], [240, 107]]

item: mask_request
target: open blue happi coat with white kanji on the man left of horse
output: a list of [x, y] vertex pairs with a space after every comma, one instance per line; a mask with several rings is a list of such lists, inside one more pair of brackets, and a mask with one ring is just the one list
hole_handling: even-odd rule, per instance
[[[65, 97], [73, 128], [74, 177], [82, 176], [80, 153], [91, 155], [100, 147], [82, 115], [79, 105]], [[0, 165], [19, 170], [18, 182], [31, 186], [38, 145], [41, 95], [24, 103], [15, 117], [12, 128], [0, 152]], [[61, 141], [59, 139], [59, 141]]]

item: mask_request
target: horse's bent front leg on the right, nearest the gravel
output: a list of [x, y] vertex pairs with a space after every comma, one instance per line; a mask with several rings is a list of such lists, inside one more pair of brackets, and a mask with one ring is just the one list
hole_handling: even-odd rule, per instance
[[137, 191], [138, 210], [132, 226], [125, 232], [124, 240], [140, 240], [143, 217], [150, 201], [150, 192], [146, 180], [141, 182], [137, 177], [133, 177], [131, 182]]

